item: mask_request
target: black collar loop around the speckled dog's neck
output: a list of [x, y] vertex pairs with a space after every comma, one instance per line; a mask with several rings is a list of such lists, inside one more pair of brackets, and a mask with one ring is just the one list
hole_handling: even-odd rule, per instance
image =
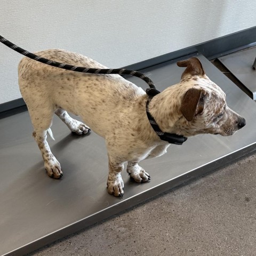
[[148, 121], [151, 124], [154, 131], [156, 132], [156, 134], [159, 136], [159, 138], [161, 140], [167, 141], [167, 142], [175, 144], [175, 145], [182, 145], [182, 143], [188, 139], [187, 137], [184, 137], [182, 135], [178, 135], [175, 133], [162, 132], [160, 127], [157, 125], [154, 117], [151, 116], [151, 114], [149, 113], [149, 110], [148, 110], [149, 102], [156, 94], [158, 94], [160, 92], [157, 91], [156, 89], [148, 88], [146, 90], [146, 93], [149, 95], [147, 103], [146, 103], [146, 112], [147, 112], [147, 116], [148, 116]]

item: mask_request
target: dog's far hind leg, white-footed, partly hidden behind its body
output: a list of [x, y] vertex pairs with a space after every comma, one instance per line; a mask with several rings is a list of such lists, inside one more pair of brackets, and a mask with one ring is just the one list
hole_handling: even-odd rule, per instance
[[68, 126], [71, 132], [75, 132], [77, 134], [86, 134], [91, 131], [87, 125], [70, 117], [67, 111], [62, 108], [55, 110], [55, 114]]

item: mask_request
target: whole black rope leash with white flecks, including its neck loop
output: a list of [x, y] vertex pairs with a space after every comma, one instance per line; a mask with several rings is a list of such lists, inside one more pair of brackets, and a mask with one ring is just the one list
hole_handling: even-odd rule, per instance
[[153, 118], [153, 116], [151, 116], [151, 114], [149, 113], [149, 110], [148, 110], [149, 102], [151, 101], [151, 99], [156, 94], [158, 94], [160, 92], [156, 90], [156, 87], [155, 87], [154, 83], [151, 81], [151, 79], [148, 78], [147, 76], [145, 76], [144, 74], [139, 73], [138, 71], [135, 71], [135, 70], [129, 70], [129, 69], [125, 69], [125, 68], [98, 69], [98, 68], [86, 68], [86, 67], [72, 66], [72, 65], [65, 64], [65, 63], [45, 59], [45, 58], [43, 58], [41, 56], [38, 56], [34, 53], [26, 51], [26, 50], [22, 49], [21, 47], [19, 47], [19, 46], [13, 44], [12, 42], [8, 41], [7, 39], [2, 37], [1, 35], [0, 35], [0, 42], [3, 43], [4, 45], [8, 46], [12, 50], [14, 50], [14, 51], [16, 51], [16, 52], [18, 52], [22, 55], [25, 55], [26, 57], [28, 57], [30, 59], [39, 61], [41, 63], [47, 64], [47, 65], [50, 65], [50, 66], [53, 66], [53, 67], [67, 69], [67, 70], [76, 71], [76, 72], [82, 72], [82, 73], [131, 75], [131, 76], [141, 78], [150, 87], [146, 90], [146, 93], [149, 95], [148, 100], [147, 100], [147, 105], [146, 105], [146, 111], [147, 111], [147, 116], [148, 116], [148, 119], [149, 119], [149, 123], [153, 127], [156, 134], [159, 136], [159, 138], [161, 140], [164, 140], [164, 141], [167, 141], [169, 143], [176, 144], [176, 145], [182, 145], [182, 143], [187, 140], [187, 138], [183, 137], [182, 135], [162, 132], [161, 129], [159, 128], [159, 126], [157, 125], [155, 119]]

